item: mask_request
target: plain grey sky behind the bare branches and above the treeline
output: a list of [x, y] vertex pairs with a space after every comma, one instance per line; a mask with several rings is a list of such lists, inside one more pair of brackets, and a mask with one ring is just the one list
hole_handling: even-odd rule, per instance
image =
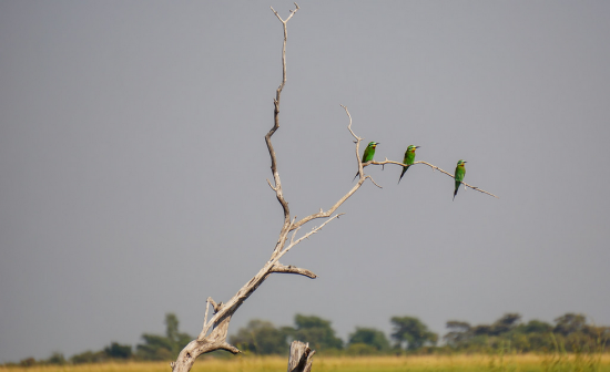
[[[268, 259], [282, 211], [263, 136], [288, 1], [0, 2], [0, 362], [201, 330]], [[367, 183], [234, 317], [389, 331], [416, 316], [568, 311], [610, 323], [610, 2], [312, 1], [288, 23], [274, 136], [292, 211]], [[314, 224], [315, 225], [315, 224]]]

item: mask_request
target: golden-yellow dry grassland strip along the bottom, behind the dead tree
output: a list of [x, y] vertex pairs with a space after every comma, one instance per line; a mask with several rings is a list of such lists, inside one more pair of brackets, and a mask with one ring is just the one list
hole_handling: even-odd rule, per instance
[[[193, 372], [278, 372], [287, 360], [279, 356], [204, 358]], [[105, 363], [47, 366], [0, 366], [11, 372], [169, 372], [169, 362]], [[610, 355], [425, 355], [314, 358], [313, 372], [610, 372]]]

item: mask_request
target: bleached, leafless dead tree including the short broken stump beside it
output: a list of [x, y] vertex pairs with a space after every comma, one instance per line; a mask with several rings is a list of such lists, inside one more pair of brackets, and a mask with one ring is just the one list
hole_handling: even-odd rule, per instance
[[[356, 163], [357, 163], [358, 175], [359, 175], [358, 182], [342, 198], [339, 198], [333, 206], [331, 206], [326, 210], [321, 208], [319, 211], [314, 213], [299, 220], [296, 220], [296, 217], [293, 217], [291, 215], [288, 203], [286, 202], [284, 197], [284, 193], [282, 190], [282, 182], [279, 179], [279, 173], [277, 170], [277, 161], [276, 161], [275, 149], [273, 148], [272, 136], [279, 128], [279, 102], [282, 96], [282, 90], [286, 84], [286, 40], [287, 40], [286, 25], [287, 25], [287, 22], [293, 18], [293, 16], [299, 9], [296, 3], [294, 4], [296, 8], [295, 10], [291, 10], [291, 14], [288, 16], [288, 18], [286, 18], [286, 20], [283, 20], [282, 17], [279, 17], [279, 14], [273, 8], [271, 8], [271, 10], [275, 13], [277, 19], [282, 22], [284, 27], [284, 44], [282, 48], [282, 68], [283, 68], [282, 83], [279, 84], [275, 93], [274, 124], [273, 124], [273, 127], [270, 130], [270, 132], [265, 135], [265, 142], [267, 144], [267, 148], [271, 157], [271, 170], [273, 174], [273, 183], [270, 182], [268, 179], [267, 179], [267, 183], [270, 187], [275, 192], [277, 202], [279, 202], [279, 205], [282, 206], [284, 211], [284, 223], [282, 225], [282, 230], [279, 231], [277, 242], [275, 244], [275, 248], [273, 250], [273, 254], [271, 255], [270, 260], [264, 264], [263, 268], [258, 270], [258, 272], [248, 282], [246, 282], [237, 291], [237, 293], [235, 293], [235, 296], [233, 296], [226, 302], [218, 302], [218, 303], [216, 303], [212, 298], [207, 298], [207, 302], [205, 307], [205, 316], [203, 320], [203, 329], [195, 340], [191, 341], [186, 347], [184, 347], [184, 349], [180, 352], [176, 361], [171, 363], [173, 372], [190, 371], [199, 355], [209, 353], [215, 350], [226, 350], [234, 354], [240, 353], [240, 350], [234, 345], [230, 344], [226, 340], [231, 317], [233, 317], [233, 314], [235, 313], [235, 311], [237, 311], [237, 309], [242, 306], [242, 303], [244, 303], [244, 301], [258, 288], [258, 286], [263, 283], [263, 281], [265, 281], [265, 279], [270, 275], [274, 272], [279, 272], [279, 273], [283, 272], [283, 273], [297, 273], [311, 279], [316, 278], [316, 275], [313, 273], [312, 271], [304, 268], [298, 268], [292, 265], [283, 265], [279, 262], [279, 259], [284, 257], [284, 255], [286, 255], [294, 246], [298, 245], [301, 241], [308, 238], [313, 234], [316, 234], [324, 226], [326, 226], [326, 224], [331, 223], [335, 218], [338, 218], [340, 215], [343, 215], [343, 214], [335, 214], [335, 211], [352, 195], [354, 195], [354, 193], [356, 193], [367, 179], [370, 179], [373, 184], [382, 188], [382, 186], [375, 183], [375, 180], [369, 175], [365, 175], [364, 167], [368, 165], [385, 165], [385, 164], [396, 164], [399, 166], [405, 166], [403, 163], [388, 161], [387, 158], [383, 162], [370, 161], [363, 164], [359, 157], [359, 145], [363, 138], [358, 137], [352, 130], [352, 116], [349, 115], [347, 107], [342, 105], [349, 121], [347, 125], [347, 130], [349, 131], [352, 136], [355, 138], [354, 141], [355, 156], [356, 156]], [[441, 173], [450, 177], [454, 177], [451, 174], [429, 163], [416, 162], [415, 164], [425, 164], [431, 167], [433, 170], [438, 169]], [[495, 196], [477, 187], [467, 185], [465, 183], [462, 184], [465, 187], [470, 187], [478, 192]], [[324, 219], [324, 223], [322, 223], [319, 226], [313, 227], [308, 232], [302, 236], [297, 236], [298, 231], [301, 231], [301, 228], [305, 224], [314, 219]], [[212, 307], [213, 309], [213, 314], [210, 319], [207, 319], [210, 307]], [[298, 342], [295, 343], [295, 342], [293, 342], [293, 345], [291, 347], [291, 363], [288, 364], [288, 372], [293, 370], [311, 371], [312, 356], [315, 353], [315, 351], [312, 351], [307, 344], [304, 344], [302, 342], [301, 343]]]

